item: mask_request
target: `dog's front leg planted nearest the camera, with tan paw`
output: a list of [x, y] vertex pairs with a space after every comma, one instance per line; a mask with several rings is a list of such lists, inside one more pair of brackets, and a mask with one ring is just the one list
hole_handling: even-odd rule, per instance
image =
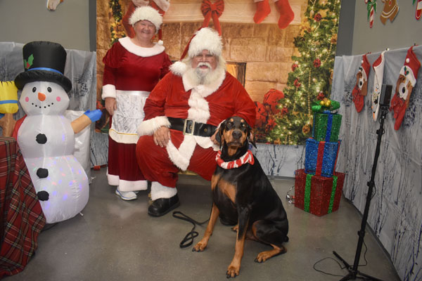
[[245, 246], [246, 230], [248, 229], [250, 209], [248, 207], [238, 207], [238, 235], [236, 237], [236, 246], [234, 247], [234, 257], [227, 268], [227, 278], [236, 277], [241, 270], [241, 261], [243, 257], [243, 247]]

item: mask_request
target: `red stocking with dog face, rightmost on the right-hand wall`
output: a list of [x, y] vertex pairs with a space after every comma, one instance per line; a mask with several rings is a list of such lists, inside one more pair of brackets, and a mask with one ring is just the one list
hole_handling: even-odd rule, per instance
[[394, 129], [398, 130], [402, 125], [404, 112], [409, 106], [411, 91], [416, 84], [416, 77], [421, 67], [418, 58], [413, 51], [413, 46], [407, 50], [406, 60], [400, 70], [399, 79], [397, 79], [395, 94], [391, 99], [390, 110], [394, 110]]

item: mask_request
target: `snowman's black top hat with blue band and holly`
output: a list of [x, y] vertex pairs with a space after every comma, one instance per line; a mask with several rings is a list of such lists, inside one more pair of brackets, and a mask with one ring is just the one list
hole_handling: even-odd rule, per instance
[[72, 82], [63, 74], [66, 65], [66, 51], [63, 46], [49, 41], [34, 41], [23, 46], [23, 66], [15, 78], [15, 85], [22, 90], [25, 84], [34, 81], [50, 81], [63, 86], [66, 93], [72, 89]]

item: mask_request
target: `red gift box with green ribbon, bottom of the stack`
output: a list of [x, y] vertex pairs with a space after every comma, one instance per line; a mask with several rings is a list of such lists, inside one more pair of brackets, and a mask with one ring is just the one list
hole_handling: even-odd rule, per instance
[[345, 174], [334, 172], [327, 178], [306, 174], [305, 169], [299, 169], [295, 175], [295, 207], [316, 216], [338, 210]]

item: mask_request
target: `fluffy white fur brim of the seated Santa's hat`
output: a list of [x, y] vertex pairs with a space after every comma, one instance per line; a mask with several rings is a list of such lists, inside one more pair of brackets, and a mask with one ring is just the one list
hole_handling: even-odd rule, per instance
[[198, 30], [189, 44], [188, 56], [193, 58], [203, 50], [208, 50], [213, 55], [221, 55], [223, 49], [222, 37], [210, 27]]

